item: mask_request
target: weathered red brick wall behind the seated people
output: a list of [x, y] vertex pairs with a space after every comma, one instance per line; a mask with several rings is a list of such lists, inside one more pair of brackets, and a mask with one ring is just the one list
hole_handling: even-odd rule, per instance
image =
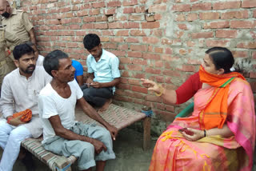
[[[181, 108], [148, 92], [140, 78], [174, 89], [198, 71], [212, 46], [228, 47], [235, 58], [256, 63], [256, 0], [23, 0], [21, 5], [30, 13], [44, 55], [64, 50], [86, 70], [82, 38], [98, 34], [121, 62], [115, 101], [134, 109], [154, 107], [157, 133]], [[256, 72], [247, 76], [256, 93]]]

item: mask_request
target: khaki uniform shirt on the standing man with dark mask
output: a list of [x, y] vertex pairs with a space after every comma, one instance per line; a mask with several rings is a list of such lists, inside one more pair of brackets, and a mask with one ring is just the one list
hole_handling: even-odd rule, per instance
[[[29, 16], [22, 10], [13, 9], [9, 18], [2, 18], [2, 25], [6, 25], [6, 30], [10, 34], [17, 36], [22, 42], [30, 41], [29, 31], [34, 27], [30, 22]], [[10, 43], [10, 50], [14, 49], [12, 43]]]

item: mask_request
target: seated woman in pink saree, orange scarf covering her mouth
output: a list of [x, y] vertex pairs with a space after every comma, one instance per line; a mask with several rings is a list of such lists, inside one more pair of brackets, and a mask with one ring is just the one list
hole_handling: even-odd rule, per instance
[[[158, 138], [150, 171], [252, 169], [254, 96], [245, 78], [230, 72], [233, 64], [233, 55], [226, 48], [206, 51], [199, 70], [202, 89], [194, 94], [194, 112], [190, 117], [176, 118]], [[176, 95], [155, 82], [142, 81], [164, 99]]]

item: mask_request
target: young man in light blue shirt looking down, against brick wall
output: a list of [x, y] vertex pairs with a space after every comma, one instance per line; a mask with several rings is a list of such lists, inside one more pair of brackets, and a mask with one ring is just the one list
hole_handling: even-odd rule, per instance
[[110, 105], [115, 91], [115, 85], [120, 82], [118, 58], [102, 49], [102, 43], [97, 34], [86, 34], [83, 45], [90, 53], [86, 58], [87, 85], [83, 86], [83, 97], [91, 105], [101, 107], [104, 111]]

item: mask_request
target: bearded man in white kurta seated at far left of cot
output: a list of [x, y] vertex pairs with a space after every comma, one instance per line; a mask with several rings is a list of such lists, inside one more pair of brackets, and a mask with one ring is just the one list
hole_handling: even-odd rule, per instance
[[[21, 141], [27, 137], [39, 137], [42, 123], [38, 117], [38, 94], [52, 79], [42, 66], [35, 67], [34, 50], [26, 45], [14, 48], [18, 68], [7, 74], [2, 83], [0, 106], [5, 119], [0, 121], [0, 146], [4, 149], [0, 171], [11, 171], [20, 151]], [[28, 123], [12, 125], [6, 119], [25, 109], [32, 110]]]

